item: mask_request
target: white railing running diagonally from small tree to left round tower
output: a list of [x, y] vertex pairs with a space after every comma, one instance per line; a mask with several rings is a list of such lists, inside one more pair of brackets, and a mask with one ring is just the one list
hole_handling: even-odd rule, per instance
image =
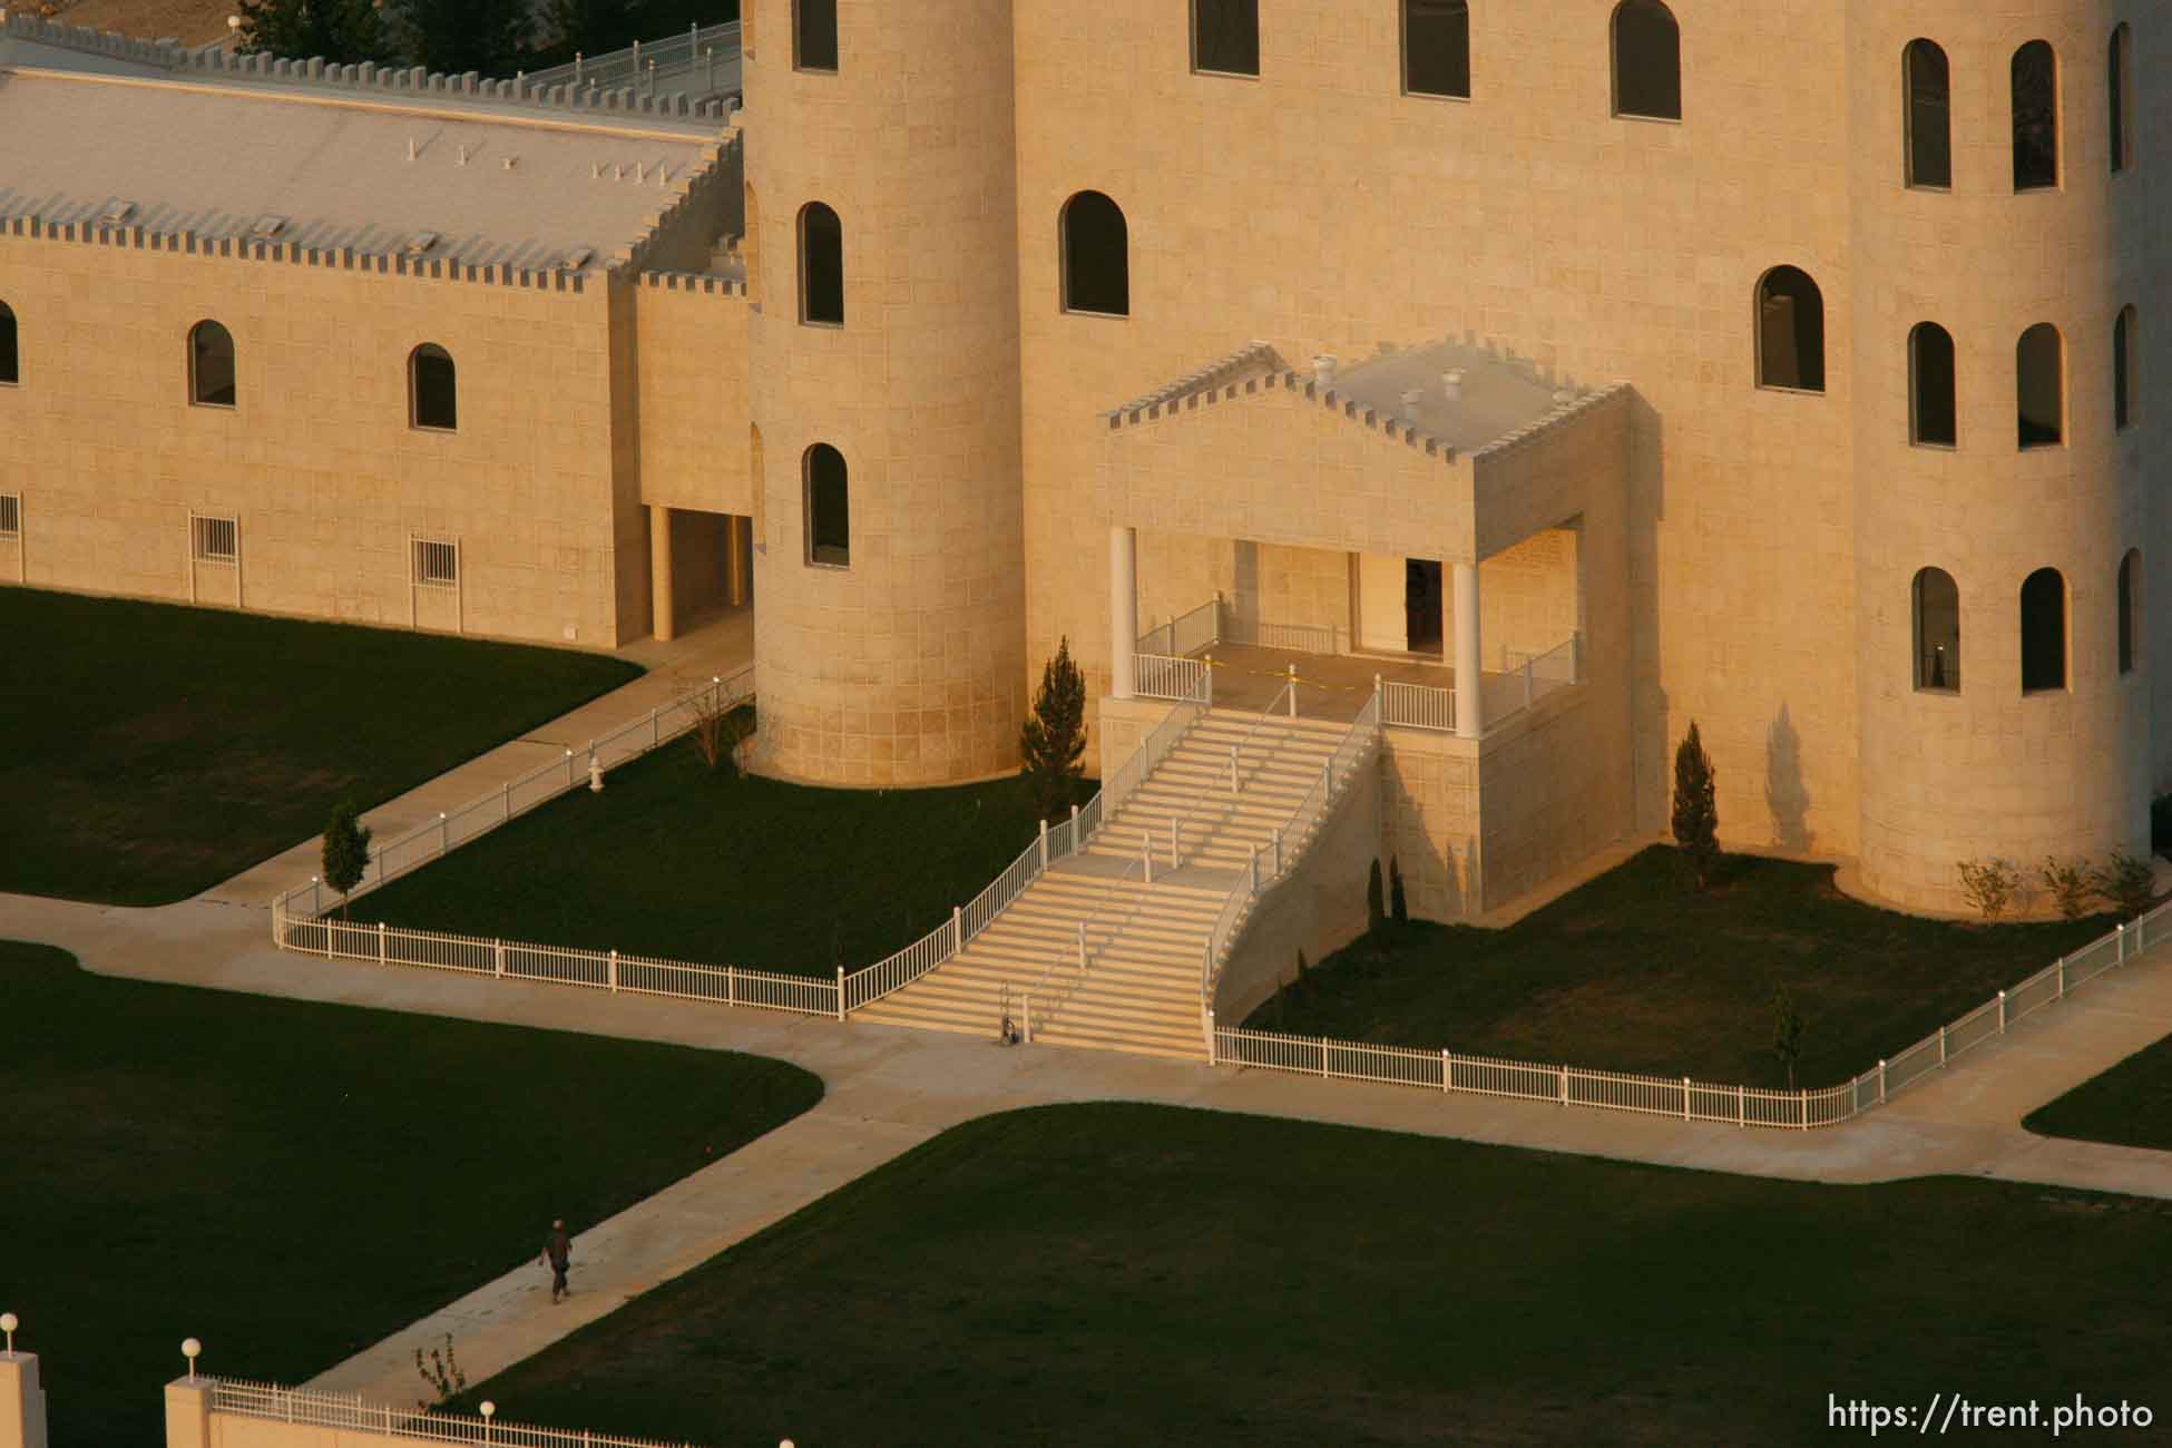
[[[660, 745], [669, 745], [680, 734], [686, 734], [699, 723], [702, 714], [719, 708], [734, 710], [754, 699], [754, 664], [743, 664], [732, 673], [710, 679], [702, 688], [662, 703], [641, 719], [626, 723], [602, 738], [589, 740], [586, 749], [567, 749], [565, 758], [550, 764], [539, 764], [523, 775], [506, 779], [489, 795], [471, 799], [458, 810], [439, 814], [434, 821], [408, 829], [404, 836], [393, 840], [374, 842], [369, 847], [369, 862], [363, 871], [363, 879], [354, 886], [352, 899], [361, 899], [378, 886], [400, 879], [402, 875], [437, 860], [450, 849], [467, 844], [500, 825], [515, 821], [517, 816], [534, 810], [536, 805], [565, 795], [571, 788], [589, 784], [591, 766], [597, 771], [613, 771], [628, 760], [636, 760]], [[311, 916], [321, 916], [326, 912], [326, 888], [321, 879], [311, 879], [308, 884], [295, 886], [280, 894], [280, 905], [289, 914], [304, 910], [302, 897], [308, 897], [306, 912]]]

